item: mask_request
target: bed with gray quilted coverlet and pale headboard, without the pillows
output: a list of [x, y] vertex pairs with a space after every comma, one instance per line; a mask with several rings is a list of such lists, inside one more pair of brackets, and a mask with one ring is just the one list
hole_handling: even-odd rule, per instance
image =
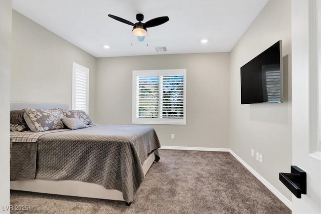
[[[68, 109], [12, 103], [11, 110]], [[160, 147], [149, 126], [95, 125], [41, 132], [11, 132], [14, 190], [125, 201], [134, 194]]]

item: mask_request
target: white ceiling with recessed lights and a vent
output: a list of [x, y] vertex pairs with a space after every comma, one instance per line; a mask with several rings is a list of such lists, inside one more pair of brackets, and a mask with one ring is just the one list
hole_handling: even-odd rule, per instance
[[[267, 1], [13, 0], [13, 9], [94, 57], [118, 57], [229, 52]], [[162, 16], [170, 21], [148, 28], [145, 40], [138, 42], [132, 26], [108, 17], [136, 23], [138, 13], [144, 15], [143, 23]]]

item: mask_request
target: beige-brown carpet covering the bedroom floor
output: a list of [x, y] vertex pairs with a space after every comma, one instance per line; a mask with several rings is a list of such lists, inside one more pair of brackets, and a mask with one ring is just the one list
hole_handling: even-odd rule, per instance
[[291, 213], [228, 152], [159, 152], [131, 206], [15, 190], [11, 205], [29, 205], [21, 213]]

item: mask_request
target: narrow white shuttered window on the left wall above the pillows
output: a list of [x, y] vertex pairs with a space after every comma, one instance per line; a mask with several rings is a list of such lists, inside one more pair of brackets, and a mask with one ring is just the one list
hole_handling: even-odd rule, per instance
[[72, 63], [72, 109], [89, 112], [89, 69]]

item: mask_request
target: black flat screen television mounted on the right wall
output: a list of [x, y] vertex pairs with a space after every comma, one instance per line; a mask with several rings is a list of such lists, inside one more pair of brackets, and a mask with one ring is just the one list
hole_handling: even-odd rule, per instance
[[241, 67], [241, 104], [282, 102], [282, 41]]

